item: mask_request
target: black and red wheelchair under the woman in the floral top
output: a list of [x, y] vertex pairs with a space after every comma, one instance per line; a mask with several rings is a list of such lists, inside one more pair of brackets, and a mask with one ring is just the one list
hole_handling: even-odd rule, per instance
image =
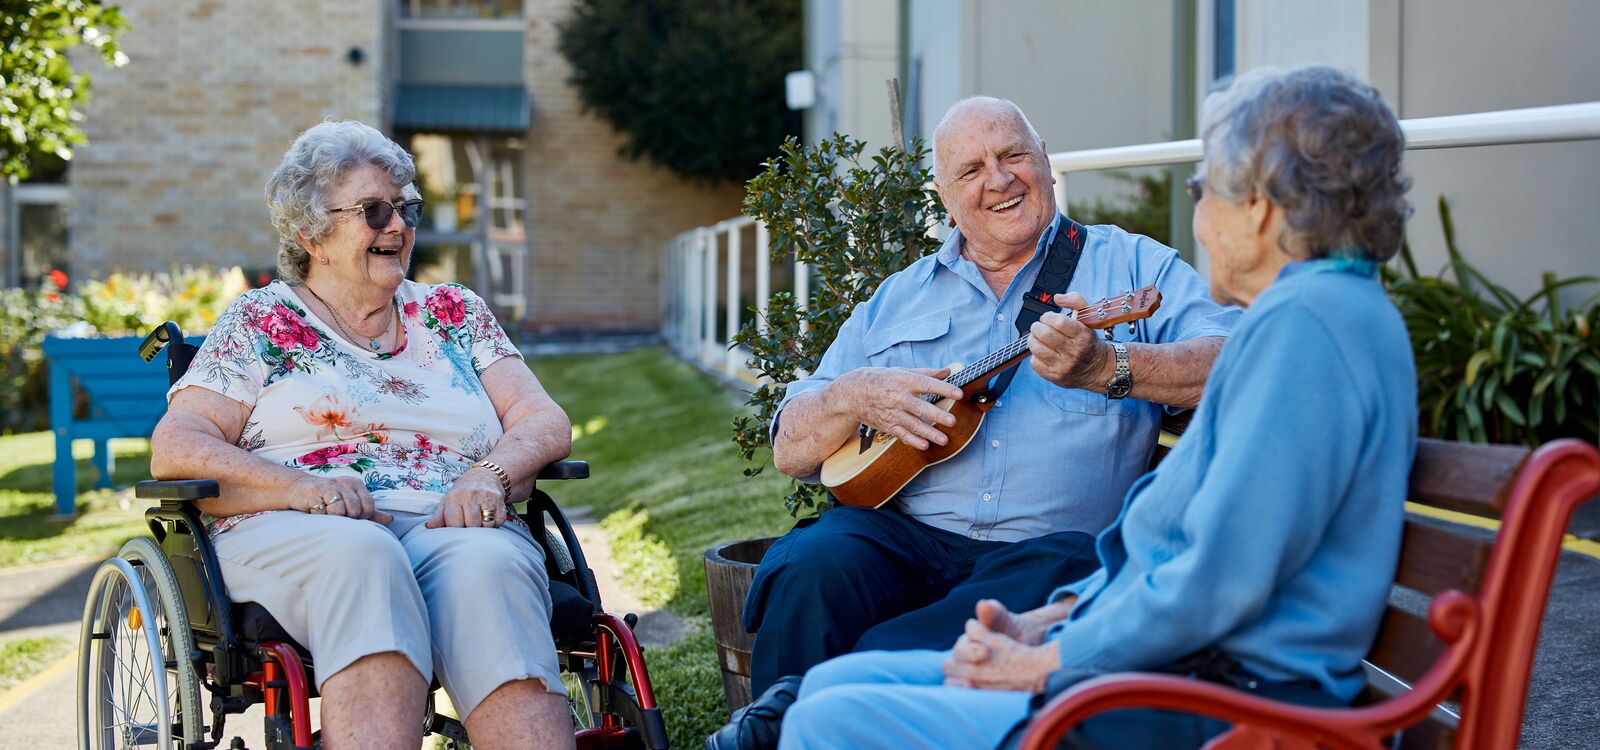
[[[141, 344], [150, 361], [166, 349], [168, 381], [189, 368], [198, 347], [176, 323]], [[637, 617], [600, 606], [600, 592], [571, 525], [538, 480], [582, 480], [582, 461], [539, 472], [522, 518], [544, 547], [550, 622], [579, 750], [664, 750], [667, 732], [634, 638]], [[309, 700], [310, 654], [264, 608], [227, 596], [216, 552], [195, 501], [216, 497], [214, 480], [139, 481], [149, 537], [101, 563], [90, 585], [78, 638], [77, 724], [82, 750], [222, 745], [224, 721], [261, 704], [267, 750], [320, 748]], [[550, 523], [546, 525], [546, 520]], [[552, 531], [554, 528], [554, 531]], [[466, 726], [435, 713], [435, 680], [418, 721], [445, 747], [470, 747]], [[435, 740], [437, 742], [437, 740]], [[229, 750], [248, 750], [234, 737]]]

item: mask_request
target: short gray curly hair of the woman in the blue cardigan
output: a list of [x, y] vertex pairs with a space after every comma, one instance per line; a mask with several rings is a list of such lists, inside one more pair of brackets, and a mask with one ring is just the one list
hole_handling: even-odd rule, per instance
[[[1405, 134], [1378, 91], [1326, 66], [1254, 69], [1206, 96], [1200, 117], [1206, 189], [1229, 203], [1261, 192], [1283, 208], [1278, 248], [1325, 257], [1400, 251], [1411, 181]], [[1294, 251], [1291, 251], [1294, 248]]]

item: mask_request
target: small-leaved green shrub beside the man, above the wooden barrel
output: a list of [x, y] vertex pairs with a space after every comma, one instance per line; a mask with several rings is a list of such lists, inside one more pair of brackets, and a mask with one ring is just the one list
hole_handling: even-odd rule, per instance
[[[733, 421], [733, 441], [747, 461], [771, 448], [778, 403], [790, 382], [816, 369], [850, 312], [890, 273], [939, 249], [928, 230], [944, 217], [944, 205], [930, 187], [933, 174], [917, 166], [928, 149], [918, 139], [909, 154], [883, 149], [866, 163], [864, 150], [864, 142], [838, 133], [816, 146], [789, 138], [782, 155], [763, 163], [747, 186], [744, 213], [766, 224], [773, 256], [794, 254], [814, 273], [810, 299], [774, 293], [760, 320], [765, 329], [750, 320], [733, 337], [749, 347], [749, 366], [762, 376], [746, 401], [755, 414]], [[746, 477], [760, 473], [765, 459]], [[800, 513], [821, 494], [819, 486], [795, 481], [784, 504]]]

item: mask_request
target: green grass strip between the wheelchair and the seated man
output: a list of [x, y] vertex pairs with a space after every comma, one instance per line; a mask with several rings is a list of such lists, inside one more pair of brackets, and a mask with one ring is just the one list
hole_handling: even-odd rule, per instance
[[691, 625], [646, 659], [672, 747], [701, 747], [726, 720], [702, 555], [787, 531], [789, 480], [773, 469], [742, 475], [731, 427], [742, 398], [661, 349], [531, 365], [573, 421], [573, 457], [590, 465], [590, 478], [546, 489], [562, 505], [594, 507], [637, 593]]

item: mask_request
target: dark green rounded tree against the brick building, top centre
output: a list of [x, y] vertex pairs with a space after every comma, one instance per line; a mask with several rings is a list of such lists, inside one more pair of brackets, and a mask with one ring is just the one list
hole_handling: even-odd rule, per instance
[[800, 131], [784, 104], [800, 0], [576, 0], [560, 50], [621, 152], [685, 178], [746, 181]]

